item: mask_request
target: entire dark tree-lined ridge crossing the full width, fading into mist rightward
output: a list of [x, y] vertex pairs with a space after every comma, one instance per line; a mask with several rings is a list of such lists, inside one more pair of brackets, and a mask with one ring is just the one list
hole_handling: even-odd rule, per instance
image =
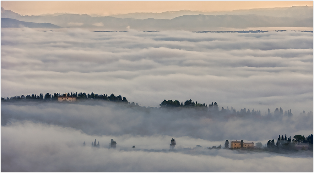
[[[85, 100], [104, 100], [104, 101], [111, 101], [111, 102], [120, 102], [120, 103], [126, 103], [129, 105], [133, 106], [138, 106], [138, 107], [143, 107], [138, 105], [138, 103], [134, 102], [128, 102], [126, 97], [122, 97], [121, 95], [114, 95], [113, 93], [110, 95], [107, 94], [94, 94], [94, 92], [91, 92], [90, 94], [86, 94], [85, 92], [71, 92], [71, 93], [54, 93], [54, 94], [49, 94], [46, 93], [43, 95], [40, 93], [39, 95], [36, 94], [31, 94], [31, 95], [21, 95], [21, 96], [14, 96], [14, 97], [7, 97], [7, 98], [1, 98], [1, 101], [4, 102], [16, 102], [16, 101], [38, 101], [38, 102], [52, 102], [52, 101], [57, 101], [58, 97], [76, 97], [78, 101], [85, 101]], [[146, 107], [144, 107], [146, 108]], [[157, 108], [157, 107], [147, 107], [147, 108]], [[165, 100], [162, 101], [159, 104], [160, 109], [196, 109], [198, 111], [204, 111], [208, 112], [208, 114], [220, 114], [220, 115], [234, 115], [234, 116], [240, 116], [240, 117], [251, 117], [251, 116], [256, 116], [259, 117], [261, 116], [261, 111], [260, 110], [250, 110], [246, 108], [242, 108], [238, 111], [236, 111], [235, 108], [227, 107], [226, 109], [224, 107], [219, 108], [217, 102], [212, 102], [211, 104], [205, 104], [205, 103], [198, 103], [197, 101], [192, 101], [192, 99], [186, 100], [184, 103], [178, 100], [172, 101], [172, 100]], [[300, 113], [300, 115], [306, 115], [305, 111], [303, 113]], [[307, 115], [311, 115], [313, 112], [308, 112]], [[265, 112], [265, 116], [272, 116], [274, 115], [275, 117], [283, 117], [283, 116], [288, 116], [291, 117], [293, 114], [291, 113], [291, 109], [283, 111], [283, 109], [276, 108], [273, 113], [270, 112], [270, 109], [268, 109], [268, 113]]]

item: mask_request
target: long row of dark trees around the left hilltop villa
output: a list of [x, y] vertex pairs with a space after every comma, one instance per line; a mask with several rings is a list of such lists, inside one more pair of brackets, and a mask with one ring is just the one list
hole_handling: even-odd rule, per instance
[[84, 100], [84, 99], [100, 99], [100, 100], [108, 100], [108, 101], [113, 101], [113, 102], [124, 102], [128, 103], [127, 98], [123, 97], [121, 95], [115, 96], [114, 94], [107, 95], [107, 94], [94, 94], [94, 92], [91, 92], [90, 94], [86, 94], [85, 92], [71, 92], [71, 93], [54, 93], [54, 94], [49, 94], [46, 93], [45, 96], [43, 94], [32, 94], [32, 95], [27, 95], [24, 97], [24, 95], [21, 96], [14, 96], [14, 97], [7, 97], [1, 98], [1, 101], [55, 101], [58, 100], [58, 97], [76, 97], [78, 100]]

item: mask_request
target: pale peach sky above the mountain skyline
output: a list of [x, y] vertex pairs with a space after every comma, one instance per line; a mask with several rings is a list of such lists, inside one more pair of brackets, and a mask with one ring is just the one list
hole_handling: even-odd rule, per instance
[[313, 1], [1, 1], [1, 7], [21, 15], [53, 13], [127, 14], [135, 12], [237, 9], [313, 6]]

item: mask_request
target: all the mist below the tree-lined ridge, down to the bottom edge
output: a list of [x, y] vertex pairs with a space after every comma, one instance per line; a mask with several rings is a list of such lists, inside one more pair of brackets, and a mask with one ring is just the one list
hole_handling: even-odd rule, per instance
[[[262, 142], [264, 147], [278, 134], [307, 136], [313, 133], [312, 122], [313, 114], [226, 118], [192, 108], [145, 108], [100, 100], [2, 102], [1, 170], [311, 171], [313, 151], [216, 147], [224, 146], [225, 140]], [[173, 149], [171, 138], [176, 140]], [[115, 149], [110, 148], [111, 139]], [[99, 147], [92, 146], [94, 140]], [[295, 166], [301, 163], [304, 166]]]

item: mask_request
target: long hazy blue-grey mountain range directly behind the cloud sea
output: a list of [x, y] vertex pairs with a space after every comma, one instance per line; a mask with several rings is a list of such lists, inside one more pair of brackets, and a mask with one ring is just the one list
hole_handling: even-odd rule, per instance
[[[301, 15], [300, 9], [313, 7], [291, 7], [286, 10], [298, 12], [302, 18], [294, 17], [274, 17], [257, 14], [224, 14], [224, 15], [182, 15], [173, 19], [134, 19], [116, 18], [111, 16], [92, 17], [87, 14], [62, 14], [45, 16], [21, 16], [9, 10], [1, 8], [1, 16], [11, 16], [13, 19], [24, 22], [51, 23], [61, 27], [70, 28], [95, 28], [105, 31], [125, 31], [126, 28], [141, 31], [160, 31], [160, 30], [186, 30], [186, 31], [207, 31], [210, 28], [230, 27], [313, 27], [313, 15], [306, 16], [308, 12]], [[263, 9], [264, 11], [266, 9]], [[262, 10], [262, 12], [263, 12]], [[282, 10], [280, 8], [280, 10]], [[247, 10], [244, 10], [247, 11]], [[250, 11], [250, 10], [248, 10]], [[278, 10], [277, 10], [278, 11]], [[175, 12], [176, 14], [186, 13], [187, 10]], [[191, 12], [191, 11], [189, 11]], [[255, 10], [257, 13], [257, 10]], [[262, 13], [259, 12], [259, 13]], [[293, 14], [297, 14], [294, 12]], [[192, 13], [192, 12], [191, 12]], [[313, 14], [313, 11], [311, 12]], [[290, 15], [290, 14], [289, 14]], [[129, 26], [129, 27], [128, 27]]]

